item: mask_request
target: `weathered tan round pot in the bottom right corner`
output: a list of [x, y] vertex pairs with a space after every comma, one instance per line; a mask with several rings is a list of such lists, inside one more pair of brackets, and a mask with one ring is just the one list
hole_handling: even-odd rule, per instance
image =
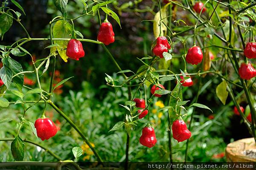
[[227, 162], [256, 162], [256, 145], [254, 139], [246, 138], [228, 144], [226, 158]]

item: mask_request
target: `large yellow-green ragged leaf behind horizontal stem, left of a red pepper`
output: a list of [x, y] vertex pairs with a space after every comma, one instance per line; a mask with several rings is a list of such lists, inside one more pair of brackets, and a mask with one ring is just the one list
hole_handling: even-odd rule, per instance
[[[72, 26], [70, 23], [67, 23], [64, 20], [59, 20], [55, 23], [55, 25], [52, 28], [52, 34], [54, 38], [70, 38], [69, 34], [72, 32]], [[67, 55], [66, 50], [63, 50], [67, 48], [67, 41], [54, 41], [60, 46], [57, 46], [58, 54], [60, 54], [61, 58], [64, 60], [64, 62], [67, 62]]]

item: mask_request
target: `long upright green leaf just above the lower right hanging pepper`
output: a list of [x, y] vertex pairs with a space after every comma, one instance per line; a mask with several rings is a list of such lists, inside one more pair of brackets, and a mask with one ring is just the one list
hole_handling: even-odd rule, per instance
[[[180, 91], [180, 93], [179, 93], [179, 91]], [[169, 106], [171, 108], [168, 110], [168, 113], [169, 113], [169, 117], [171, 118], [171, 123], [172, 123], [176, 119], [177, 113], [180, 113], [180, 107], [177, 107], [177, 113], [175, 112], [175, 107], [176, 107], [176, 103], [177, 103], [177, 99], [175, 99], [175, 98], [180, 98], [180, 100], [182, 101], [182, 89], [181, 89], [180, 83], [177, 83], [175, 88], [172, 90], [171, 94], [172, 95], [169, 100]]]

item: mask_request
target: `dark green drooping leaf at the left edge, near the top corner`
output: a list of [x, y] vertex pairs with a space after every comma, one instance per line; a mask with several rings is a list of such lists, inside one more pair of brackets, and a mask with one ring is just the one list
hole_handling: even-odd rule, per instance
[[[10, 16], [12, 16], [12, 13], [10, 11], [6, 12]], [[12, 17], [10, 17], [7, 14], [1, 14], [0, 15], [0, 36], [3, 40], [3, 35], [11, 28], [12, 26]]]

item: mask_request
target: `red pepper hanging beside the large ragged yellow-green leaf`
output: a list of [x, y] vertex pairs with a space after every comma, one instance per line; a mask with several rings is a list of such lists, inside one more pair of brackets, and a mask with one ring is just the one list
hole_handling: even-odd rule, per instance
[[84, 49], [82, 43], [79, 40], [71, 39], [67, 43], [66, 55], [67, 57], [76, 60], [79, 60], [79, 58], [84, 57]]

